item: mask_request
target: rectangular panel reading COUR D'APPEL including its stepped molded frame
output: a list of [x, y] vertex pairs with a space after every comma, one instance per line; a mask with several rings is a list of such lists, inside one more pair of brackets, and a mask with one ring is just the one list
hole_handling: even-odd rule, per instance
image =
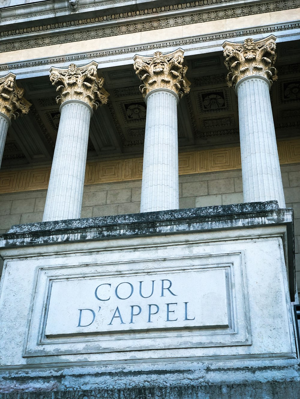
[[195, 249], [39, 269], [24, 356], [249, 345], [242, 253]]

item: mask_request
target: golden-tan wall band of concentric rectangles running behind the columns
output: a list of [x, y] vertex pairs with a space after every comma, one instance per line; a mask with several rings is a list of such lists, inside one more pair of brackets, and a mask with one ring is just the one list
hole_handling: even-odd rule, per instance
[[[206, 133], [207, 134], [207, 133]], [[207, 134], [209, 135], [209, 133]], [[300, 139], [277, 142], [280, 165], [300, 162]], [[143, 158], [125, 158], [88, 162], [86, 164], [86, 186], [142, 179]], [[240, 147], [212, 148], [181, 152], [179, 175], [240, 170]], [[45, 190], [50, 177], [50, 167], [14, 170], [0, 173], [0, 194]]]

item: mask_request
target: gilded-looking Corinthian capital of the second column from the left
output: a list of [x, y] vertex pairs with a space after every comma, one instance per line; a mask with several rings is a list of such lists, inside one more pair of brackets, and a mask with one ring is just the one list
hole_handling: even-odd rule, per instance
[[102, 87], [104, 78], [98, 77], [97, 65], [96, 61], [92, 61], [83, 67], [76, 67], [75, 64], [70, 64], [68, 69], [51, 67], [50, 81], [60, 94], [56, 102], [62, 104], [67, 100], [80, 100], [92, 109], [106, 104], [109, 93]]

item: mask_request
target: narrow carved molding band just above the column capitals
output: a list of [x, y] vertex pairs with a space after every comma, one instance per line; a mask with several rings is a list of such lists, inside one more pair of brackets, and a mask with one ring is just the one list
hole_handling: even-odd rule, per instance
[[[295, 23], [295, 24], [279, 24], [276, 26], [268, 26], [266, 28], [253, 28], [253, 29], [247, 29], [247, 30], [238, 30], [234, 32], [224, 32], [221, 34], [215, 34], [215, 35], [205, 35], [205, 36], [200, 36], [196, 38], [183, 38], [180, 40], [174, 40], [174, 41], [165, 41], [165, 42], [160, 42], [160, 43], [150, 43], [148, 45], [140, 45], [140, 46], [135, 46], [135, 47], [122, 47], [118, 49], [107, 49], [106, 51], [97, 51], [97, 52], [90, 52], [90, 53], [82, 53], [82, 54], [70, 54], [62, 57], [56, 57], [56, 58], [48, 58], [48, 59], [39, 59], [36, 61], [24, 61], [22, 63], [11, 63], [11, 64], [4, 64], [0, 65], [0, 73], [1, 71], [6, 72], [10, 69], [21, 69], [21, 68], [32, 68], [32, 67], [41, 67], [45, 66], [44, 69], [36, 70], [32, 69], [32, 73], [36, 72], [44, 72], [48, 71], [47, 66], [48, 65], [53, 65], [53, 64], [58, 64], [58, 63], [66, 63], [66, 62], [75, 62], [75, 61], [86, 61], [87, 59], [99, 59], [102, 57], [107, 57], [110, 56], [112, 57], [109, 61], [103, 61], [103, 62], [115, 62], [115, 61], [124, 61], [128, 59], [132, 59], [131, 57], [123, 57], [120, 59], [116, 59], [115, 56], [118, 55], [124, 55], [124, 54], [136, 54], [141, 51], [152, 51], [155, 49], [164, 49], [164, 48], [170, 48], [170, 47], [180, 47], [180, 46], [185, 46], [185, 45], [195, 45], [197, 43], [206, 43], [209, 41], [216, 41], [216, 40], [228, 40], [231, 38], [239, 38], [243, 37], [246, 35], [252, 36], [252, 35], [257, 35], [257, 34], [270, 34], [270, 33], [276, 33], [284, 30], [292, 30], [292, 29], [299, 29], [300, 28], [300, 23]], [[286, 37], [286, 36], [293, 36], [292, 34], [288, 35], [276, 35], [278, 38], [279, 37]], [[259, 39], [263, 39], [262, 37]], [[214, 45], [208, 45], [208, 46], [202, 46], [202, 47], [192, 47], [191, 49], [193, 50], [198, 50], [201, 48], [210, 48], [210, 47], [221, 47], [221, 45], [214, 44]], [[185, 49], [187, 51], [188, 49]], [[99, 61], [101, 62], [101, 61]], [[78, 64], [78, 66], [82, 66], [84, 64]], [[28, 71], [24, 73], [30, 73]], [[18, 75], [22, 75], [23, 72], [18, 72]]]

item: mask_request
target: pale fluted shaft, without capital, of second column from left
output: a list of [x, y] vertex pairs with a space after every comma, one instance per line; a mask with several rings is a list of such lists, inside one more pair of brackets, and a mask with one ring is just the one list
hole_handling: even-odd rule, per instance
[[92, 109], [70, 100], [60, 108], [43, 221], [80, 217]]

